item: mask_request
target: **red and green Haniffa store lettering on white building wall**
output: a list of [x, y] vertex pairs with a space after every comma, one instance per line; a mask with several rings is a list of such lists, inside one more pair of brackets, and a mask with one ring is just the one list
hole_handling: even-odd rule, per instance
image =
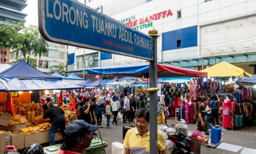
[[159, 12], [148, 17], [136, 19], [136, 16], [130, 16], [125, 19], [119, 20], [123, 22], [125, 25], [132, 27], [133, 29], [140, 30], [153, 26], [153, 21], [158, 20], [160, 18], [169, 17], [172, 15], [171, 10], [165, 10], [163, 12]]

